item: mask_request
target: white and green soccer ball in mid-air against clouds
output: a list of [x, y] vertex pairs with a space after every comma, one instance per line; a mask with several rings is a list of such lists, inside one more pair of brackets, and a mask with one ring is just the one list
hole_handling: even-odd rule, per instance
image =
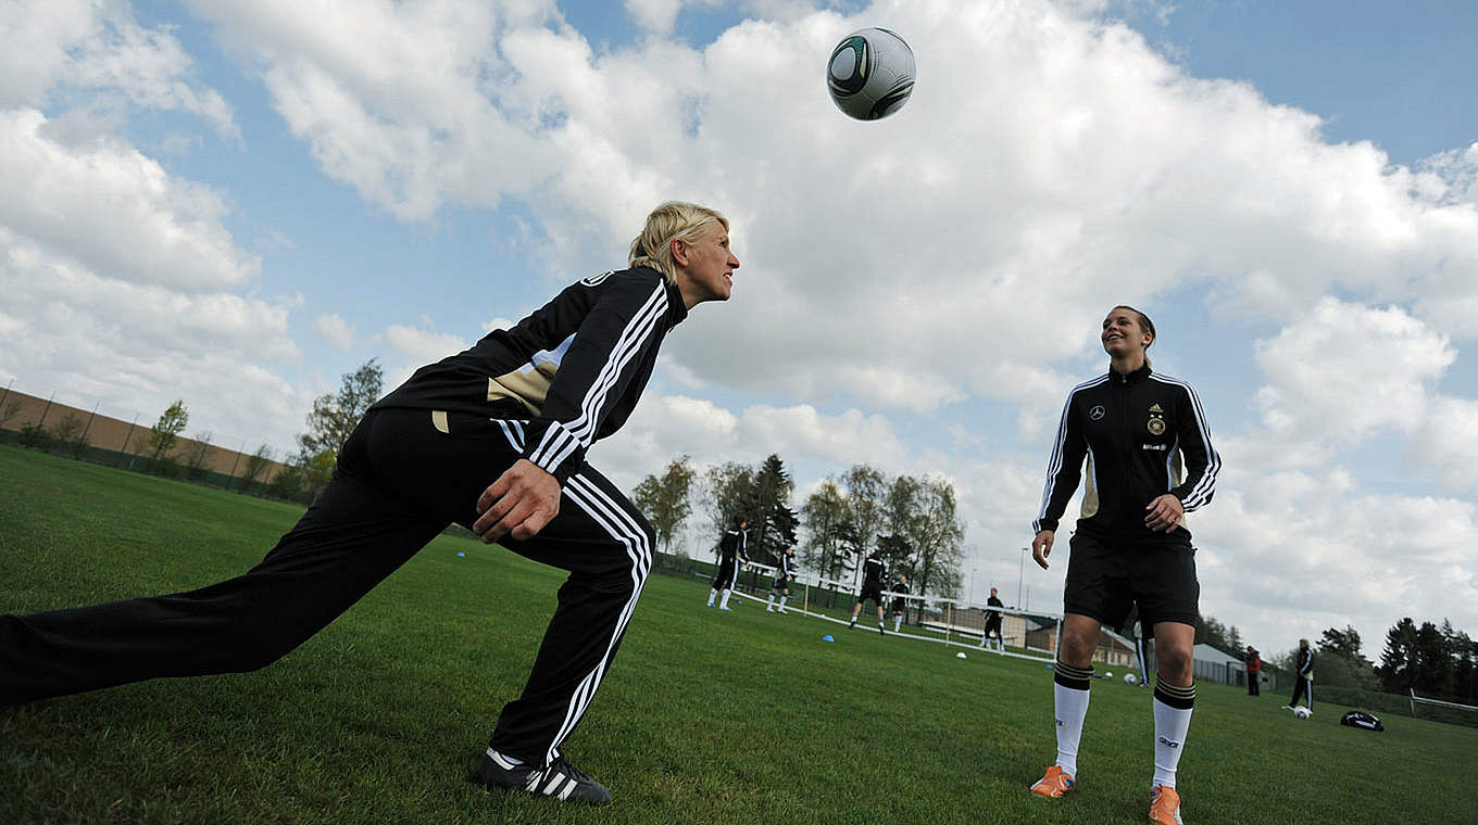
[[913, 93], [913, 50], [885, 28], [859, 28], [832, 49], [826, 89], [847, 117], [885, 118]]

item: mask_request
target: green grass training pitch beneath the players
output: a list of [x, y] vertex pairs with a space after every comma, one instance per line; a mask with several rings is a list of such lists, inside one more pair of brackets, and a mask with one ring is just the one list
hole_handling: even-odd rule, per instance
[[[0, 611], [208, 584], [302, 509], [0, 447]], [[457, 552], [466, 552], [458, 558]], [[653, 576], [568, 742], [613, 806], [466, 781], [528, 673], [559, 571], [440, 537], [257, 673], [155, 680], [0, 708], [0, 822], [1140, 822], [1148, 691], [1094, 685], [1079, 791], [1051, 763], [1042, 664], [704, 607]], [[834, 643], [820, 638], [831, 633]], [[1478, 731], [1202, 685], [1179, 790], [1193, 824], [1475, 822]]]

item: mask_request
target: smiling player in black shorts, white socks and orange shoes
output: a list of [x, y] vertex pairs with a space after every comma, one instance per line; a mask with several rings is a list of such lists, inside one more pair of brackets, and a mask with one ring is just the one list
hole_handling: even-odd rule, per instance
[[[1057, 763], [1032, 793], [1061, 797], [1073, 790], [1094, 648], [1104, 624], [1123, 627], [1138, 605], [1159, 660], [1150, 821], [1179, 825], [1175, 770], [1196, 703], [1191, 651], [1200, 599], [1184, 517], [1210, 502], [1221, 459], [1196, 391], [1150, 369], [1154, 325], [1144, 313], [1114, 307], [1098, 339], [1108, 372], [1067, 396], [1032, 540], [1032, 556], [1045, 570], [1058, 519], [1086, 478], [1052, 669]], [[1088, 471], [1080, 472], [1085, 459]]]

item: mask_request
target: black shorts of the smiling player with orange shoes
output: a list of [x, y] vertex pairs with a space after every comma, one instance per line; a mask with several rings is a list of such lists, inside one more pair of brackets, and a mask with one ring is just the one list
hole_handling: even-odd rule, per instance
[[1196, 626], [1200, 581], [1188, 539], [1104, 542], [1076, 533], [1069, 549], [1063, 612], [1119, 627], [1138, 604], [1147, 632], [1157, 621]]

